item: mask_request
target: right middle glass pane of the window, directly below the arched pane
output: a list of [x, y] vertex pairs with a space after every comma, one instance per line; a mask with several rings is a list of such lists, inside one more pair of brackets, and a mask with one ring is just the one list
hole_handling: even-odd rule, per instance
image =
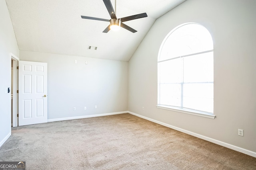
[[213, 82], [213, 52], [184, 57], [184, 82]]

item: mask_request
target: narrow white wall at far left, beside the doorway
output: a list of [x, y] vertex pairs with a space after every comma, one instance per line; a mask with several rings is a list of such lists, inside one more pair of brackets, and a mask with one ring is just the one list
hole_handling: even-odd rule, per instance
[[11, 135], [11, 87], [10, 53], [17, 57], [19, 49], [5, 0], [0, 1], [0, 146]]

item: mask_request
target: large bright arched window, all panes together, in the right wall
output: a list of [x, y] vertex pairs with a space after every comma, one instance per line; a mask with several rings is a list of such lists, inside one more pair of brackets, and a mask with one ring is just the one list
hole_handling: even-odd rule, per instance
[[158, 53], [158, 107], [213, 115], [213, 42], [198, 23], [165, 37]]

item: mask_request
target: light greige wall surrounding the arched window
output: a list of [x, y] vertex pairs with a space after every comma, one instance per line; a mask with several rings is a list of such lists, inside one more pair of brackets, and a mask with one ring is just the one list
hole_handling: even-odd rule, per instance
[[[256, 156], [255, 8], [255, 0], [187, 0], [158, 18], [129, 61], [128, 110]], [[160, 45], [174, 27], [187, 22], [204, 25], [214, 41], [215, 119], [156, 108]]]

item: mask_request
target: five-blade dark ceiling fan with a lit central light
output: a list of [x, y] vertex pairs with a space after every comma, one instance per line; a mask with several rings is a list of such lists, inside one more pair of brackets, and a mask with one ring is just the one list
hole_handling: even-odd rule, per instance
[[135, 33], [135, 32], [137, 32], [135, 29], [129, 27], [128, 25], [125, 25], [123, 22], [147, 17], [146, 13], [142, 13], [142, 14], [137, 14], [137, 15], [117, 19], [115, 11], [113, 9], [113, 6], [112, 6], [110, 0], [103, 0], [103, 2], [108, 10], [110, 17], [111, 17], [110, 20], [103, 19], [103, 18], [89, 17], [89, 16], [81, 16], [81, 17], [84, 19], [89, 19], [89, 20], [99, 20], [99, 21], [110, 22], [108, 27], [106, 27], [106, 29], [104, 29], [104, 31], [103, 31], [104, 33], [107, 33], [110, 29], [118, 30], [118, 29], [120, 29], [120, 27], [123, 27], [123, 28], [127, 29], [128, 31], [131, 31], [132, 33]]

